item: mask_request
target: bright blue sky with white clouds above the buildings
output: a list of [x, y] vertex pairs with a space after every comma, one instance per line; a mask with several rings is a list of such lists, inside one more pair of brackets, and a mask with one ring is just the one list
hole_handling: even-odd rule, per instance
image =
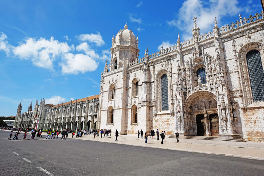
[[45, 97], [58, 104], [99, 94], [110, 60], [112, 35], [128, 28], [139, 37], [140, 57], [190, 39], [193, 17], [200, 34], [260, 13], [259, 0], [1, 1], [0, 116], [16, 115]]

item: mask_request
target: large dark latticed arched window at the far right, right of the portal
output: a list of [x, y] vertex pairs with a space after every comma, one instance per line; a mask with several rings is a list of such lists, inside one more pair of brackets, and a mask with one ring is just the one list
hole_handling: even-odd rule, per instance
[[260, 52], [251, 50], [246, 58], [253, 101], [262, 101], [264, 100], [264, 72]]

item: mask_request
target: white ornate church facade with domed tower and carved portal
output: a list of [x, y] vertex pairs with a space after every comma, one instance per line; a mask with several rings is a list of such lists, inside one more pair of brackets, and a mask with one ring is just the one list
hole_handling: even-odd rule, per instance
[[[257, 50], [264, 68], [264, 13], [217, 26], [138, 58], [138, 37], [125, 25], [112, 37], [110, 64], [101, 75], [100, 129], [121, 134], [167, 134], [264, 139], [264, 99], [253, 100], [247, 53]], [[263, 87], [264, 85], [262, 85]]]

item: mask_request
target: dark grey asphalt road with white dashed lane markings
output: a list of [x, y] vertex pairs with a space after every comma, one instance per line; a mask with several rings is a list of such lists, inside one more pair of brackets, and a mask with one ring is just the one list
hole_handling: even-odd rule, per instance
[[[263, 175], [264, 161], [88, 140], [7, 140], [0, 175]], [[59, 136], [60, 137], [60, 136]], [[69, 135], [68, 137], [71, 137]], [[115, 141], [115, 137], [112, 137]], [[151, 144], [150, 144], [151, 145]]]

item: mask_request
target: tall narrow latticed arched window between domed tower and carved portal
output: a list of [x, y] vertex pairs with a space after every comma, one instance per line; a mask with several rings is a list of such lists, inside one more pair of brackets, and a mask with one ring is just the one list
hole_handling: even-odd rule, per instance
[[162, 111], [169, 109], [168, 101], [168, 77], [166, 74], [161, 76], [161, 101], [162, 101]]

